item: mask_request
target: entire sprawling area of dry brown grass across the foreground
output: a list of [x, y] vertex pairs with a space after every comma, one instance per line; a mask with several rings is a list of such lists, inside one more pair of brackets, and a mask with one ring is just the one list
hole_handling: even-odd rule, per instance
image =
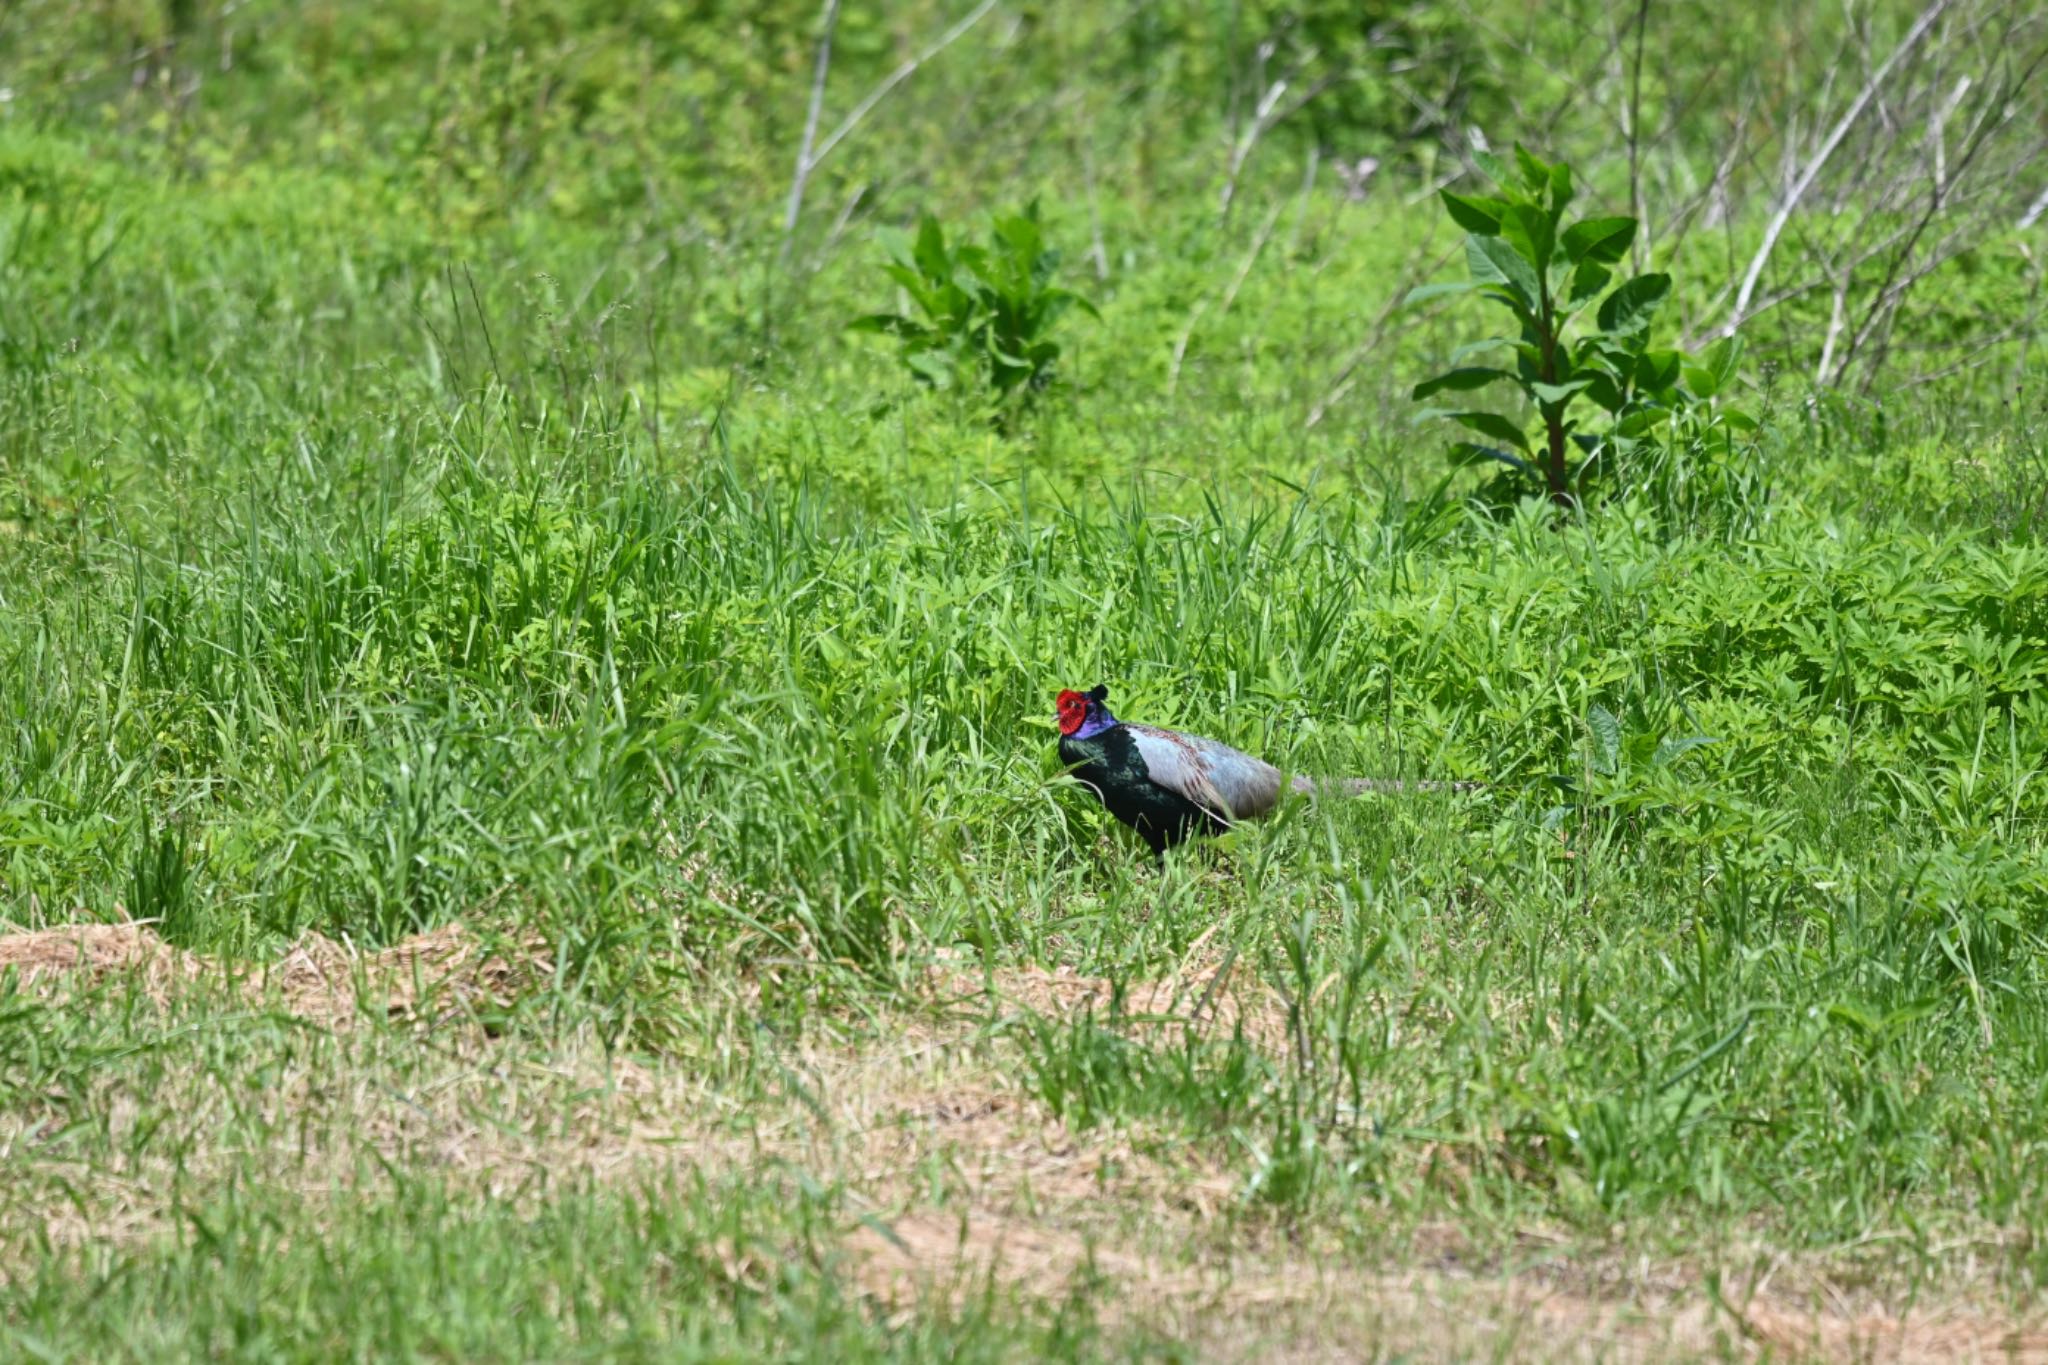
[[[180, 1197], [223, 1181], [291, 1189], [317, 1218], [322, 1201], [360, 1197], [387, 1169], [498, 1201], [662, 1171], [760, 1183], [801, 1169], [840, 1187], [860, 1216], [850, 1216], [844, 1269], [885, 1314], [995, 1285], [1038, 1300], [1092, 1289], [1110, 1322], [1174, 1334], [1208, 1359], [2048, 1361], [2040, 1322], [1964, 1300], [1907, 1312], [1835, 1285], [1825, 1269], [1802, 1275], [1796, 1257], [1753, 1273], [1747, 1300], [1731, 1293], [1733, 1310], [1700, 1289], [1696, 1265], [1466, 1269], [1448, 1230], [1360, 1265], [1356, 1248], [1341, 1254], [1245, 1209], [1239, 1179], [1204, 1150], [1128, 1126], [1069, 1130], [1020, 1089], [987, 1013], [1102, 1017], [1106, 980], [940, 964], [928, 978], [936, 1009], [807, 1042], [782, 1056], [788, 1093], [739, 1105], [682, 1060], [608, 1058], [590, 1040], [535, 1056], [444, 1027], [463, 1003], [516, 990], [541, 968], [535, 954], [508, 960], [457, 929], [379, 954], [307, 939], [268, 970], [236, 976], [135, 925], [0, 937], [0, 964], [37, 990], [131, 974], [168, 999], [225, 978], [328, 1040], [295, 1052], [256, 1099], [203, 1070], [152, 1095], [193, 1138], [170, 1144], [182, 1148], [176, 1169], [119, 1154], [139, 1109], [119, 1074], [84, 1101], [104, 1119], [100, 1156], [43, 1152], [33, 1115], [0, 1115], [6, 1220], [35, 1220], [59, 1244], [121, 1242], [162, 1234]], [[1282, 1046], [1284, 1001], [1249, 972], [1219, 980], [1219, 966], [1196, 958], [1167, 980], [1126, 986], [1128, 1027], [1241, 1027]], [[377, 1015], [436, 1027], [350, 1027]]]

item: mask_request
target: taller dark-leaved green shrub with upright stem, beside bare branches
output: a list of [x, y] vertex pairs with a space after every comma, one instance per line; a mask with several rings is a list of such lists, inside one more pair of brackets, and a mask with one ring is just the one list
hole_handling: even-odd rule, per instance
[[[1511, 350], [1516, 366], [1458, 364], [1415, 385], [1415, 399], [1509, 385], [1536, 407], [1542, 430], [1532, 442], [1522, 422], [1497, 411], [1427, 409], [1425, 415], [1450, 417], [1493, 442], [1458, 442], [1458, 458], [1499, 460], [1516, 483], [1540, 487], [1556, 505], [1571, 508], [1595, 473], [1628, 456], [1710, 442], [1724, 448], [1731, 428], [1755, 428], [1747, 413], [1714, 407], [1741, 364], [1741, 338], [1722, 338], [1698, 356], [1653, 346], [1651, 321], [1671, 293], [1671, 276], [1649, 272], [1614, 284], [1614, 268], [1636, 239], [1636, 219], [1587, 217], [1567, 227], [1569, 166], [1546, 164], [1520, 145], [1513, 172], [1485, 151], [1475, 160], [1499, 194], [1442, 190], [1452, 221], [1468, 233], [1470, 278], [1425, 284], [1409, 303], [1485, 293], [1513, 315], [1520, 336], [1460, 346], [1454, 360]], [[1571, 327], [1595, 299], [1593, 325]], [[1571, 446], [1583, 452], [1577, 465]]]

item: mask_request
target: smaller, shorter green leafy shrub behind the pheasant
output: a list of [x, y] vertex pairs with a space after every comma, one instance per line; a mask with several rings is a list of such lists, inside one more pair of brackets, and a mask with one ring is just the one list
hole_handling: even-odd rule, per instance
[[924, 215], [915, 239], [881, 235], [883, 272], [903, 287], [918, 317], [870, 313], [856, 332], [897, 340], [897, 356], [918, 381], [952, 389], [979, 372], [999, 403], [1028, 401], [1053, 383], [1059, 342], [1053, 325], [1069, 307], [1096, 305], [1053, 284], [1059, 252], [1047, 248], [1038, 207], [995, 217], [989, 246], [948, 246], [938, 219]]

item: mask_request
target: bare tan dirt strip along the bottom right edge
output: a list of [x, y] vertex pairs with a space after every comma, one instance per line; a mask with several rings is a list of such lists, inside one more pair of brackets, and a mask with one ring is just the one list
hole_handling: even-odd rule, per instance
[[1221, 1361], [1430, 1359], [2048, 1361], [2048, 1332], [1995, 1316], [1714, 1304], [1700, 1293], [1589, 1295], [1526, 1277], [1362, 1273], [1300, 1254], [1206, 1265], [1102, 1244], [1042, 1220], [920, 1209], [842, 1242], [862, 1293], [909, 1320], [934, 1295], [1006, 1289], [1061, 1302], [1098, 1289], [1110, 1322], [1145, 1322]]

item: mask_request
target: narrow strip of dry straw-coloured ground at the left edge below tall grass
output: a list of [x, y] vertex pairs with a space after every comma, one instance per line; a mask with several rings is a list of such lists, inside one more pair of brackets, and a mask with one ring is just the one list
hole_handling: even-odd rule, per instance
[[147, 925], [63, 925], [0, 935], [0, 972], [14, 968], [29, 990], [53, 995], [123, 976], [164, 1005], [178, 988], [219, 980], [250, 1003], [274, 1003], [328, 1027], [365, 1013], [387, 1019], [436, 1009], [504, 1007], [549, 970], [545, 945], [485, 945], [463, 925], [420, 933], [391, 948], [356, 952], [307, 933], [272, 964], [217, 962], [174, 948]]

